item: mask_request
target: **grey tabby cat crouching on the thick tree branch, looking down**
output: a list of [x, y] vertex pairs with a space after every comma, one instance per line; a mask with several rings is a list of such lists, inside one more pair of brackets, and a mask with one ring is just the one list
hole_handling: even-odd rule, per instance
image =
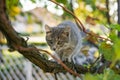
[[57, 26], [45, 25], [46, 41], [62, 61], [73, 61], [80, 53], [82, 37], [80, 29], [71, 21], [64, 21]]

